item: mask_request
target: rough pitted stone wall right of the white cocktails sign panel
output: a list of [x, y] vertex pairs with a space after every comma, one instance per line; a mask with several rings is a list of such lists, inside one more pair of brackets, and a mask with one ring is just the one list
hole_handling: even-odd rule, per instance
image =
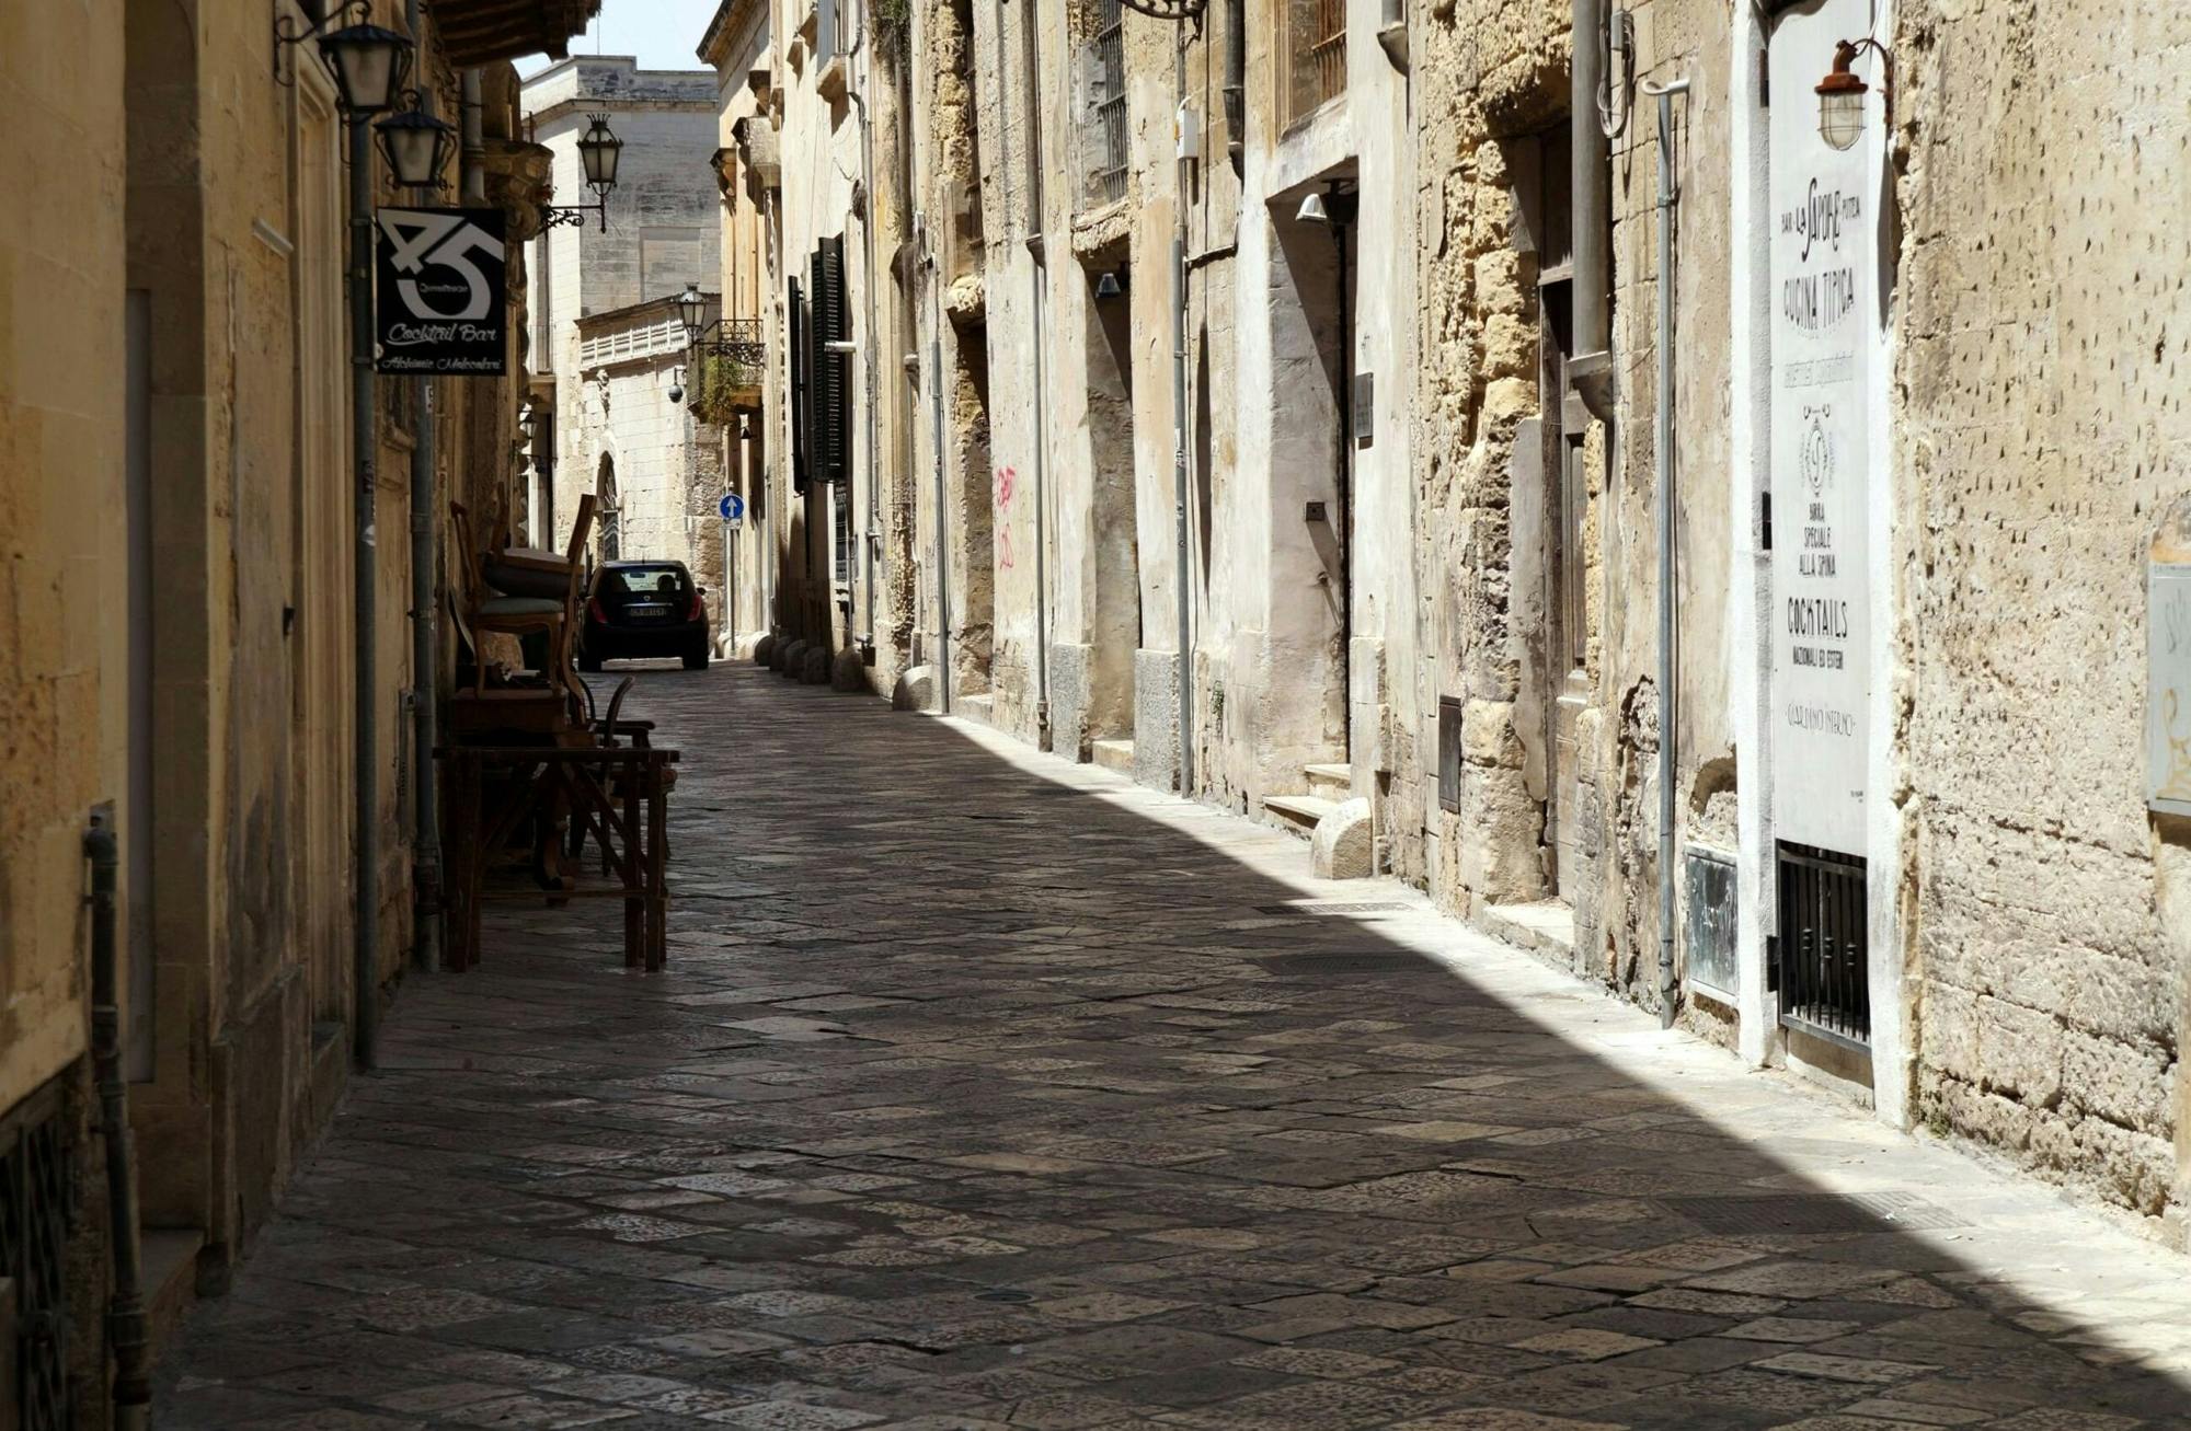
[[1904, 899], [1924, 1116], [2182, 1217], [2187, 831], [2141, 781], [2191, 11], [2103, 11], [1897, 7]]

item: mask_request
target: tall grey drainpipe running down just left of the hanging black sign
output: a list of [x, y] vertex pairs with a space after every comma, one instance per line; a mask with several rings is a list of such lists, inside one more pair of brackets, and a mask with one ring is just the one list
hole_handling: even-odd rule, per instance
[[351, 691], [351, 759], [355, 794], [357, 928], [351, 947], [351, 1042], [359, 1068], [372, 1068], [381, 1024], [381, 733], [377, 720], [379, 661], [375, 641], [375, 446], [379, 409], [372, 392], [372, 138], [366, 118], [351, 120], [351, 466], [357, 499], [353, 571], [353, 635], [357, 680]]

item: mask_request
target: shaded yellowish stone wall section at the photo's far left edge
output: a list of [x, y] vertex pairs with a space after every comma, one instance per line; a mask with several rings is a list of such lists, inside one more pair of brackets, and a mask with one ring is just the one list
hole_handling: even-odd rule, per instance
[[[0, 46], [0, 1109], [88, 1037], [83, 851], [127, 781], [123, 4]], [[70, 175], [68, 184], [44, 182]], [[35, 339], [31, 335], [37, 335]], [[94, 521], [107, 516], [110, 521]]]

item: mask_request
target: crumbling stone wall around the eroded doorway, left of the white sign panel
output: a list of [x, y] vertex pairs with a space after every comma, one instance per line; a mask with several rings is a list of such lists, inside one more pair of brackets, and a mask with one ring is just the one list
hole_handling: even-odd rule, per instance
[[[1689, 834], [1724, 842], [1733, 753], [1729, 179], [1724, 147], [1705, 138], [1729, 125], [1727, 98], [1709, 83], [1729, 66], [1722, 9], [1691, 0], [1630, 7], [1634, 72], [1621, 79], [1696, 81], [1674, 109], [1676, 792]], [[1588, 420], [1575, 403], [1547, 411], [1538, 282], [1540, 245], [1560, 228], [1547, 203], [1571, 182], [1569, 24], [1564, 2], [1485, 0], [1433, 13], [1415, 35], [1418, 94], [1435, 96], [1418, 109], [1418, 560], [1437, 593], [1439, 694], [1464, 702], [1461, 810], [1426, 812], [1437, 836], [1429, 882], [1464, 912], [1558, 895], [1573, 908], [1575, 969], [1656, 1002], [1659, 129], [1652, 101], [1624, 85], [1626, 125], [1610, 140], [1610, 422]], [[1564, 260], [1564, 249], [1553, 258]], [[1547, 444], [1549, 427], [1580, 433], [1582, 444], [1575, 468], [1586, 503], [1569, 536], [1558, 532], [1560, 455]], [[1553, 610], [1558, 562], [1580, 567], [1580, 665]], [[1433, 781], [1435, 766], [1433, 753]]]

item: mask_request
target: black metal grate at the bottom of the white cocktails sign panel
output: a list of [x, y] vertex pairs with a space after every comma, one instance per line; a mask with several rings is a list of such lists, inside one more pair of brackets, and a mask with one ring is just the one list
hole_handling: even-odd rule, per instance
[[1871, 1046], [1865, 862], [1808, 845], [1779, 847], [1781, 1024], [1851, 1048]]

